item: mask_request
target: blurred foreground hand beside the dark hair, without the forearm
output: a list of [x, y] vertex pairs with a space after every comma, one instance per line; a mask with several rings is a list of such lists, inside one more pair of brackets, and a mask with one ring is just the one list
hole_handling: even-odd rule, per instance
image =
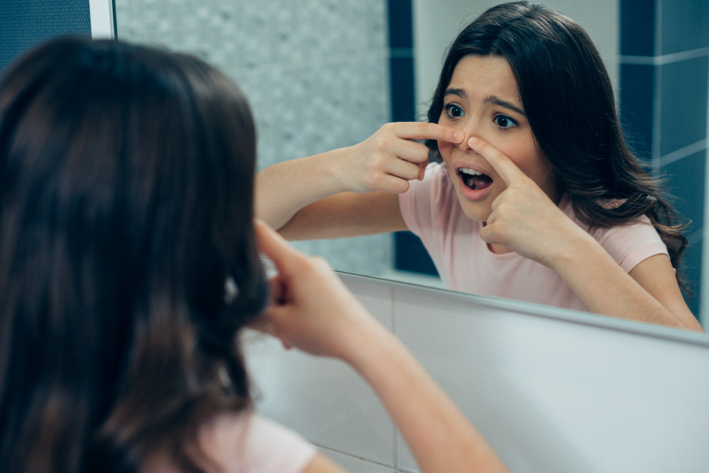
[[262, 222], [255, 226], [259, 250], [278, 271], [262, 326], [286, 345], [347, 360], [350, 347], [361, 344], [367, 330], [379, 330], [379, 322], [323, 258], [299, 252]]

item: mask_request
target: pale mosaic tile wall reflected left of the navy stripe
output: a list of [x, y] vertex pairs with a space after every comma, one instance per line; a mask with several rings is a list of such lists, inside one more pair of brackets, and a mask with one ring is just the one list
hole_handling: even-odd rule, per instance
[[[240, 84], [259, 169], [353, 145], [391, 121], [386, 0], [116, 0], [118, 38], [191, 52]], [[335, 269], [391, 269], [391, 235], [298, 242]]]

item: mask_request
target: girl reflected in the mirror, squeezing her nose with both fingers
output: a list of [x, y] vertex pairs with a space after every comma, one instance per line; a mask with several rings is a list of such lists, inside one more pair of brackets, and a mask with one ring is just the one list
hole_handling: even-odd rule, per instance
[[264, 169], [257, 215], [289, 239], [411, 230], [451, 289], [702, 330], [674, 269], [681, 226], [571, 18], [484, 12], [447, 52], [428, 121]]

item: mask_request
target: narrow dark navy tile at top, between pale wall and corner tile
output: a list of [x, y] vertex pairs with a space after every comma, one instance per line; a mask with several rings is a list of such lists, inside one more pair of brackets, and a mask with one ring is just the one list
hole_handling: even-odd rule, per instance
[[620, 0], [620, 54], [654, 56], [655, 0]]

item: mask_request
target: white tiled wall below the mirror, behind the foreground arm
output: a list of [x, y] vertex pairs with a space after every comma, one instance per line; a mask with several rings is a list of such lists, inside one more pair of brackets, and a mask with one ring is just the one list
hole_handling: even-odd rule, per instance
[[[709, 339], [505, 299], [342, 275], [510, 471], [707, 472]], [[246, 334], [257, 409], [352, 472], [415, 472], [369, 386]], [[411, 386], [415, 389], [415, 386]]]

